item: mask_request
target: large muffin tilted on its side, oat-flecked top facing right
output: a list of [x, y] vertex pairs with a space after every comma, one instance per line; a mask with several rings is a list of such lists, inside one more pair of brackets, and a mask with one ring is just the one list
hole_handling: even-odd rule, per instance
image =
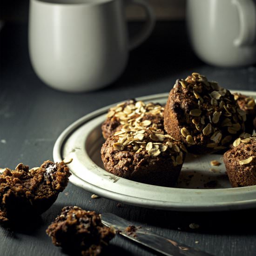
[[193, 154], [225, 148], [244, 131], [245, 111], [229, 90], [193, 73], [176, 81], [164, 110], [164, 128]]

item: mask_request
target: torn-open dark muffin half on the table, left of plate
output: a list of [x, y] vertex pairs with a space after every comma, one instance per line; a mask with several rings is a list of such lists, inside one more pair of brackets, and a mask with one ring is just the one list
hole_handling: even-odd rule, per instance
[[57, 199], [71, 175], [64, 162], [44, 162], [29, 170], [18, 164], [0, 175], [0, 224], [19, 216], [40, 215]]

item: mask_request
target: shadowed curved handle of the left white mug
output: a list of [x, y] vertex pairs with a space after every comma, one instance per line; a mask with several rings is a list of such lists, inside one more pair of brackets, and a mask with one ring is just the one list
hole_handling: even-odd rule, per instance
[[129, 40], [128, 49], [132, 50], [135, 47], [139, 46], [141, 43], [143, 43], [151, 34], [155, 26], [155, 14], [152, 8], [144, 0], [129, 0], [128, 2], [129, 4], [135, 4], [143, 7], [146, 12], [146, 21], [141, 27], [141, 31], [138, 34], [135, 34], [135, 36], [133, 36]]

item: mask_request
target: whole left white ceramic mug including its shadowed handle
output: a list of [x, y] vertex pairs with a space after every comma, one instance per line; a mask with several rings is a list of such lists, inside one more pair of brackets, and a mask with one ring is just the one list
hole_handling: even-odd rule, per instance
[[[124, 9], [146, 11], [140, 34], [128, 39]], [[30, 0], [29, 54], [35, 73], [52, 88], [82, 92], [115, 81], [128, 51], [143, 42], [155, 24], [144, 0]]]

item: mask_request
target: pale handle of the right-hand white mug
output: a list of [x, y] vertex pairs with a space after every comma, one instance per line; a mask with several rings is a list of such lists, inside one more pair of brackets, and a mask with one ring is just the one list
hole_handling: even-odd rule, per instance
[[256, 4], [253, 0], [232, 0], [240, 21], [240, 32], [234, 40], [236, 47], [250, 46], [256, 41]]

